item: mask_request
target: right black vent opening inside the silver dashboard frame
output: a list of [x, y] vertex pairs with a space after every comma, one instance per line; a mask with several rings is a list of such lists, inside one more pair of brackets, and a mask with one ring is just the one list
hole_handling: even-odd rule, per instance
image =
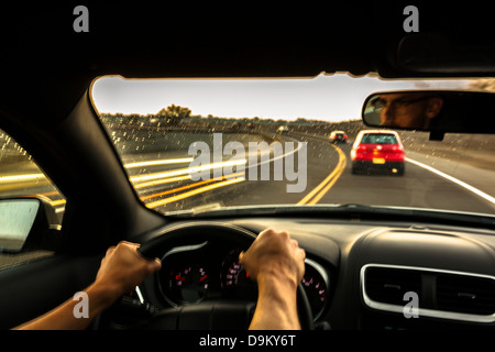
[[441, 274], [437, 277], [437, 309], [471, 315], [495, 314], [495, 280]]

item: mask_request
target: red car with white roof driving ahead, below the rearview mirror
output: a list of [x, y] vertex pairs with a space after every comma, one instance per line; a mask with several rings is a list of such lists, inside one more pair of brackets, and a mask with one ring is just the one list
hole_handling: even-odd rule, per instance
[[364, 130], [351, 150], [352, 173], [388, 170], [404, 175], [406, 160], [404, 145], [395, 131]]

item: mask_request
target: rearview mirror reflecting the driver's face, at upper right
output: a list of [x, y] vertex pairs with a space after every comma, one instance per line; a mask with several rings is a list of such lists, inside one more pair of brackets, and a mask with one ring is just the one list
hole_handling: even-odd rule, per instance
[[376, 92], [362, 109], [364, 124], [439, 133], [495, 133], [495, 95], [475, 91]]

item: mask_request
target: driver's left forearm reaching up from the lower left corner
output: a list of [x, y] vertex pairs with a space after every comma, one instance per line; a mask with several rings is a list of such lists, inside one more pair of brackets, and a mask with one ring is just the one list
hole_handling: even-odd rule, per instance
[[[75, 314], [79, 311], [79, 300], [68, 299], [61, 306], [54, 308], [53, 310], [46, 312], [45, 315], [28, 321], [16, 328], [15, 330], [81, 330], [86, 329], [89, 323], [102, 312], [105, 309], [110, 307], [114, 297], [109, 295], [108, 288], [101, 285], [91, 285], [84, 290], [87, 296], [87, 317], [78, 317]], [[77, 306], [77, 307], [76, 307]]]

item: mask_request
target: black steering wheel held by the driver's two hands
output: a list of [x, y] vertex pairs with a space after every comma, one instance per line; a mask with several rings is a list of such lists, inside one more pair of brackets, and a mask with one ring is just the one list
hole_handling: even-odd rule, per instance
[[[165, 250], [182, 244], [205, 242], [208, 240], [235, 241], [248, 249], [256, 234], [243, 228], [215, 222], [185, 223], [167, 229], [146, 243], [139, 252], [146, 258], [160, 257]], [[255, 302], [206, 300], [199, 304], [163, 309], [153, 315], [143, 329], [248, 329]], [[299, 284], [297, 288], [297, 308], [302, 329], [314, 329], [311, 307], [306, 292]]]

